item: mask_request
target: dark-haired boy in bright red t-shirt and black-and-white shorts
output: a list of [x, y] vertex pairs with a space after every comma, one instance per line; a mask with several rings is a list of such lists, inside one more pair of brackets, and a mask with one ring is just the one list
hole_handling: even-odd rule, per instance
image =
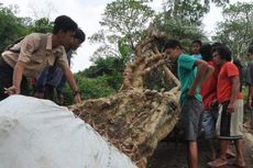
[[208, 163], [210, 167], [221, 167], [228, 164], [227, 149], [230, 141], [235, 142], [238, 167], [245, 167], [243, 157], [242, 122], [243, 99], [240, 92], [239, 70], [231, 63], [231, 52], [226, 46], [215, 48], [213, 61], [221, 66], [218, 76], [217, 98], [219, 102], [219, 116], [217, 121], [217, 135], [220, 141], [220, 156]]

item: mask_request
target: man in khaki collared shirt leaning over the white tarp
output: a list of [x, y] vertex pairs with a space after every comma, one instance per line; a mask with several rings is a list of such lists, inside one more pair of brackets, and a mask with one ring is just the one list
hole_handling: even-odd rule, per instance
[[76, 22], [66, 15], [61, 15], [55, 19], [53, 34], [29, 34], [3, 52], [0, 57], [0, 100], [8, 94], [29, 96], [26, 77], [35, 77], [44, 68], [57, 61], [73, 89], [74, 101], [80, 102], [80, 94], [64, 49], [64, 46], [70, 44], [76, 30]]

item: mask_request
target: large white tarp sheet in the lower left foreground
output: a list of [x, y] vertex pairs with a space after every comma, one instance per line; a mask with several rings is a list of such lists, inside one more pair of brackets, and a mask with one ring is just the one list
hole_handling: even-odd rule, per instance
[[52, 101], [0, 101], [0, 168], [136, 168], [94, 128]]

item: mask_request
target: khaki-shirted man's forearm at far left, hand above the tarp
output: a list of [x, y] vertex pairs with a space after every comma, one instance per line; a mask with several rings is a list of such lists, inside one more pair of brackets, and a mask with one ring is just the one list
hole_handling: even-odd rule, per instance
[[12, 86], [10, 88], [6, 89], [7, 94], [19, 94], [20, 93], [20, 85], [22, 81], [22, 76], [24, 71], [25, 64], [18, 60], [14, 70], [13, 70], [13, 77], [12, 77]]

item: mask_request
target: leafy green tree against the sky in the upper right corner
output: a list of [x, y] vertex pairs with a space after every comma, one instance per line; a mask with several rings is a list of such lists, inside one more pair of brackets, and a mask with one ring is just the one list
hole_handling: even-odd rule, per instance
[[227, 44], [234, 56], [244, 56], [253, 42], [253, 3], [238, 2], [223, 9], [224, 21], [218, 25], [212, 37]]

